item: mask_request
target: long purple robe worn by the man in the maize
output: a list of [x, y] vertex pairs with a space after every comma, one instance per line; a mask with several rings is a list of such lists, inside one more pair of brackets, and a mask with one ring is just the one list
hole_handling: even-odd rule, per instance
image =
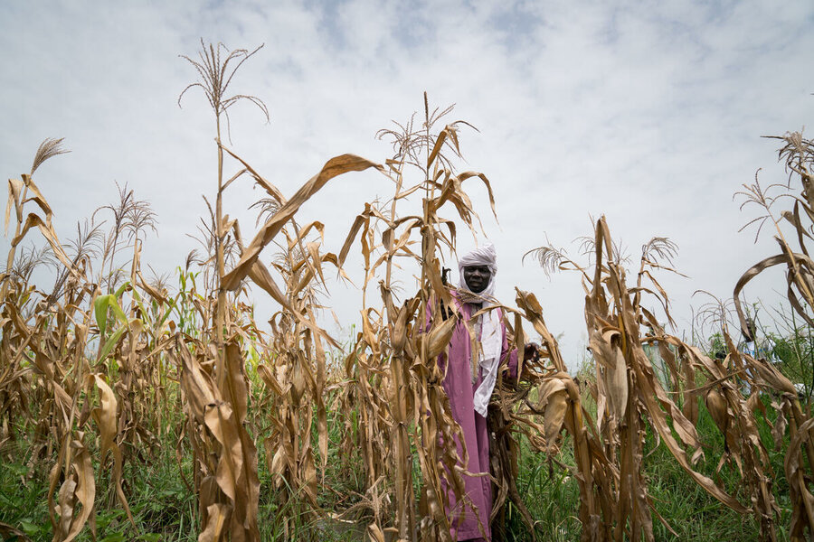
[[[469, 321], [473, 306], [471, 304], [460, 304], [456, 300], [455, 308], [459, 311], [464, 320]], [[500, 311], [500, 309], [496, 309]], [[502, 311], [500, 311], [502, 315]], [[517, 350], [509, 350], [506, 338], [506, 326], [501, 321], [503, 335], [503, 349], [500, 359], [506, 360], [508, 357], [509, 378], [516, 378], [517, 373]], [[478, 337], [478, 340], [480, 337]], [[450, 397], [450, 407], [452, 417], [460, 425], [464, 440], [469, 453], [469, 472], [486, 472], [485, 476], [464, 476], [466, 491], [469, 499], [472, 500], [477, 509], [477, 515], [470, 506], [464, 506], [457, 502], [455, 494], [444, 484], [444, 489], [450, 500], [450, 508], [446, 509], [447, 517], [450, 518], [451, 535], [453, 540], [483, 540], [483, 534], [478, 528], [478, 519], [487, 535], [486, 540], [491, 539], [489, 530], [489, 515], [492, 511], [492, 482], [488, 476], [489, 472], [489, 435], [487, 430], [487, 420], [475, 412], [474, 397], [475, 390], [478, 389], [482, 377], [478, 371], [478, 379], [472, 383], [472, 356], [471, 343], [469, 341], [469, 331], [465, 322], [461, 321], [452, 333], [450, 348], [448, 350], [449, 363], [444, 363], [440, 359], [441, 369], [444, 365], [446, 376], [443, 381], [444, 391]], [[501, 365], [502, 365], [501, 362]], [[463, 456], [463, 450], [459, 442], [458, 453]]]

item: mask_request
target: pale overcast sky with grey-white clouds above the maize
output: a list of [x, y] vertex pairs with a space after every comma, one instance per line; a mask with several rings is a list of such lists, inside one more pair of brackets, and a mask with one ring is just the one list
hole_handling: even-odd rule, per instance
[[[479, 132], [461, 133], [462, 168], [486, 173], [471, 195], [498, 250], [497, 293], [514, 286], [544, 304], [563, 333], [569, 364], [585, 332], [578, 277], [546, 278], [521, 257], [550, 239], [579, 257], [574, 238], [606, 215], [615, 238], [638, 259], [653, 236], [680, 247], [689, 279], [662, 275], [679, 332], [697, 289], [721, 297], [752, 263], [774, 253], [771, 237], [739, 233], [756, 209], [733, 200], [762, 168], [765, 184], [784, 179], [776, 161], [782, 135], [809, 124], [814, 110], [814, 7], [784, 2], [23, 2], [0, 4], [0, 166], [5, 177], [30, 168], [37, 145], [65, 137], [72, 153], [36, 179], [62, 238], [76, 220], [117, 197], [128, 183], [156, 210], [159, 235], [144, 259], [171, 271], [194, 248], [213, 197], [213, 116], [203, 95], [178, 94], [194, 81], [179, 58], [204, 42], [265, 46], [232, 90], [265, 101], [266, 124], [248, 105], [232, 109], [232, 147], [286, 194], [336, 154], [383, 162], [375, 138], [392, 120], [423, 107], [456, 104]], [[234, 164], [227, 164], [233, 171]], [[326, 223], [336, 251], [364, 201], [390, 186], [374, 173], [337, 179], [302, 209]], [[225, 210], [249, 237], [262, 196], [235, 184]], [[468, 248], [471, 237], [462, 236]], [[0, 240], [0, 250], [9, 239]], [[361, 279], [358, 259], [348, 273]], [[773, 303], [780, 273], [757, 281], [752, 301]], [[359, 294], [331, 285], [347, 326]], [[260, 299], [260, 312], [273, 304]]]

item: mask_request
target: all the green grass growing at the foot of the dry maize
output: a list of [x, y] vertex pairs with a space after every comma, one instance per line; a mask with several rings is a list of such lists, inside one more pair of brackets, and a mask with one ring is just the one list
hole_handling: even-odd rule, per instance
[[[769, 406], [768, 399], [764, 401]], [[591, 405], [589, 405], [590, 409]], [[773, 417], [771, 408], [770, 417]], [[167, 420], [170, 426], [180, 425], [177, 419]], [[339, 452], [339, 427], [342, 423], [337, 413], [330, 413], [328, 420], [329, 451], [325, 483], [319, 488], [319, 504], [328, 511], [341, 512], [364, 493], [364, 472], [361, 458], [346, 457]], [[776, 452], [769, 433], [769, 426], [758, 416], [763, 443], [766, 446], [774, 470], [773, 490], [781, 509], [777, 534], [779, 540], [787, 540], [785, 530], [790, 521], [788, 484], [782, 470], [782, 452]], [[316, 428], [315, 428], [316, 429]], [[708, 447], [705, 458], [696, 468], [705, 475], [722, 483], [741, 502], [748, 502], [743, 492], [740, 474], [733, 464], [724, 465], [715, 473], [718, 458], [723, 453], [723, 436], [705, 408], [697, 425], [699, 435]], [[315, 430], [316, 438], [316, 430]], [[255, 435], [261, 443], [262, 435]], [[188, 491], [175, 459], [177, 436], [165, 432], [147, 463], [128, 463], [123, 479], [130, 508], [137, 521], [134, 530], [118, 503], [112, 498], [109, 487], [109, 470], [97, 475], [97, 528], [98, 540], [167, 540], [172, 542], [194, 541], [198, 534], [197, 501]], [[23, 530], [34, 541], [52, 538], [51, 523], [46, 509], [48, 471], [52, 459], [37, 464], [31, 470], [27, 450], [21, 441], [6, 444], [0, 454], [4, 457], [0, 469], [0, 521]], [[663, 516], [677, 536], [670, 533], [654, 514], [653, 528], [657, 540], [697, 540], [722, 542], [759, 540], [759, 530], [750, 516], [741, 516], [727, 509], [692, 481], [667, 452], [664, 444], [656, 445], [650, 433], [644, 472], [648, 478], [649, 495], [658, 513]], [[316, 445], [316, 443], [315, 443]], [[549, 463], [542, 454], [534, 453], [525, 439], [520, 441], [520, 475], [517, 489], [535, 519], [537, 539], [551, 541], [577, 541], [580, 539], [579, 490], [572, 472], [563, 471], [556, 463]], [[308, 513], [301, 500], [294, 499], [285, 507], [279, 506], [279, 495], [274, 490], [269, 472], [265, 468], [264, 449], [260, 454], [260, 534], [262, 540], [284, 539], [283, 519], [289, 520], [290, 539], [319, 540], [320, 542], [359, 540], [363, 538], [364, 525], [369, 520], [362, 514], [355, 518], [359, 527], [349, 526], [332, 519], [317, 519]], [[570, 443], [563, 444], [557, 461], [573, 465]], [[99, 465], [94, 463], [99, 472]], [[185, 453], [182, 469], [188, 481], [192, 481], [191, 453]], [[519, 511], [512, 504], [506, 505], [506, 540], [531, 540]], [[90, 529], [82, 531], [79, 540], [91, 540]]]

